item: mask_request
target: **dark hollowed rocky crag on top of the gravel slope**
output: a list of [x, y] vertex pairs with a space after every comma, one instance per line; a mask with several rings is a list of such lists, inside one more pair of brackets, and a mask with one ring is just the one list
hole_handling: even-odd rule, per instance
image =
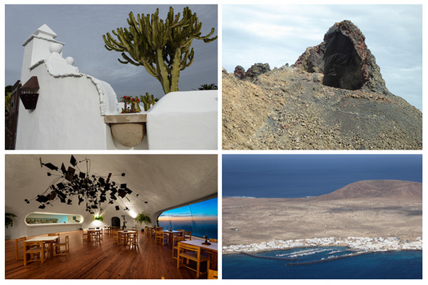
[[376, 59], [365, 44], [365, 36], [351, 21], [329, 28], [324, 41], [307, 48], [295, 66], [310, 73], [324, 73], [325, 86], [389, 93]]

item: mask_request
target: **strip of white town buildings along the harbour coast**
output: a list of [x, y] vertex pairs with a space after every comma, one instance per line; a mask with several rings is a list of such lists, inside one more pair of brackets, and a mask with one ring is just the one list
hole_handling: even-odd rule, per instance
[[359, 253], [395, 252], [422, 250], [422, 238], [400, 239], [399, 237], [347, 237], [291, 239], [287, 241], [262, 242], [259, 244], [237, 244], [223, 246], [222, 254], [260, 253], [310, 247], [347, 247]]

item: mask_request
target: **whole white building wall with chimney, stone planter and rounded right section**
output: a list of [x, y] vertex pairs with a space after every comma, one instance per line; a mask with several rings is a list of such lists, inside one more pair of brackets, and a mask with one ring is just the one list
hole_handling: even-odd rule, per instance
[[113, 88], [80, 73], [55, 38], [44, 24], [23, 44], [15, 149], [217, 149], [217, 90], [168, 93], [147, 112], [120, 114]]

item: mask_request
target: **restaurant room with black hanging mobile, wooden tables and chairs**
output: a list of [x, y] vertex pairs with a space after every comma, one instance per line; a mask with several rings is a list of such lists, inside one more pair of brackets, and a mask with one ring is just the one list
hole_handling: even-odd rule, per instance
[[5, 278], [217, 279], [216, 235], [159, 222], [217, 195], [217, 155], [5, 155]]

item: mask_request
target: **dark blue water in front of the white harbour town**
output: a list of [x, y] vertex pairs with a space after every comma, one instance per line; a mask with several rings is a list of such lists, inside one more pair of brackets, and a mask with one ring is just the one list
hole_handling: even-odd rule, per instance
[[[422, 279], [422, 251], [345, 257], [350, 253], [346, 247], [315, 247], [256, 254], [263, 258], [223, 254], [223, 279]], [[332, 256], [345, 258], [317, 262]]]

